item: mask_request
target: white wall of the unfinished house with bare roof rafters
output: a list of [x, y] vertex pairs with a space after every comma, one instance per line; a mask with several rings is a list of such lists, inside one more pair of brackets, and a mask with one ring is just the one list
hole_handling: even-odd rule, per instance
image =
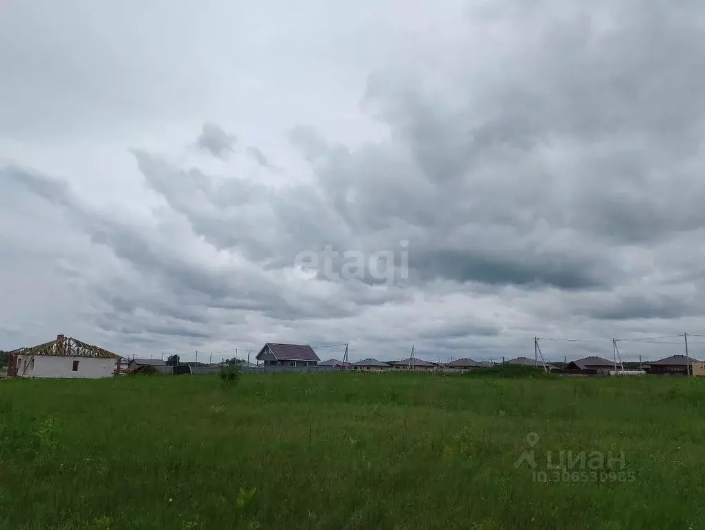
[[[17, 359], [17, 375], [20, 377], [112, 377], [115, 374], [117, 364], [117, 359], [100, 359], [96, 357], [18, 355]], [[74, 365], [75, 362], [78, 362], [78, 364]]]

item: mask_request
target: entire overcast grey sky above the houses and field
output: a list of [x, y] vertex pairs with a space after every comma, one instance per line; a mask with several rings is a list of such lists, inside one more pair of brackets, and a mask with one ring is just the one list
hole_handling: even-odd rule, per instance
[[705, 334], [701, 1], [1, 4], [0, 349]]

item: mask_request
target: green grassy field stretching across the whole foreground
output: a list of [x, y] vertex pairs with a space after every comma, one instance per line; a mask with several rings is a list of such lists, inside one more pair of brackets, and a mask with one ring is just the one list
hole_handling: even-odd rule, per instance
[[6, 380], [0, 528], [705, 528], [704, 414], [686, 378]]

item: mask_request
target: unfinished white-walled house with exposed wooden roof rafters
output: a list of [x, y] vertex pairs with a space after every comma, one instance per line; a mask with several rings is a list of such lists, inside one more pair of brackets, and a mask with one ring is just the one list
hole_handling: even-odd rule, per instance
[[8, 355], [8, 376], [37, 378], [103, 378], [118, 373], [121, 357], [75, 338], [20, 348]]

